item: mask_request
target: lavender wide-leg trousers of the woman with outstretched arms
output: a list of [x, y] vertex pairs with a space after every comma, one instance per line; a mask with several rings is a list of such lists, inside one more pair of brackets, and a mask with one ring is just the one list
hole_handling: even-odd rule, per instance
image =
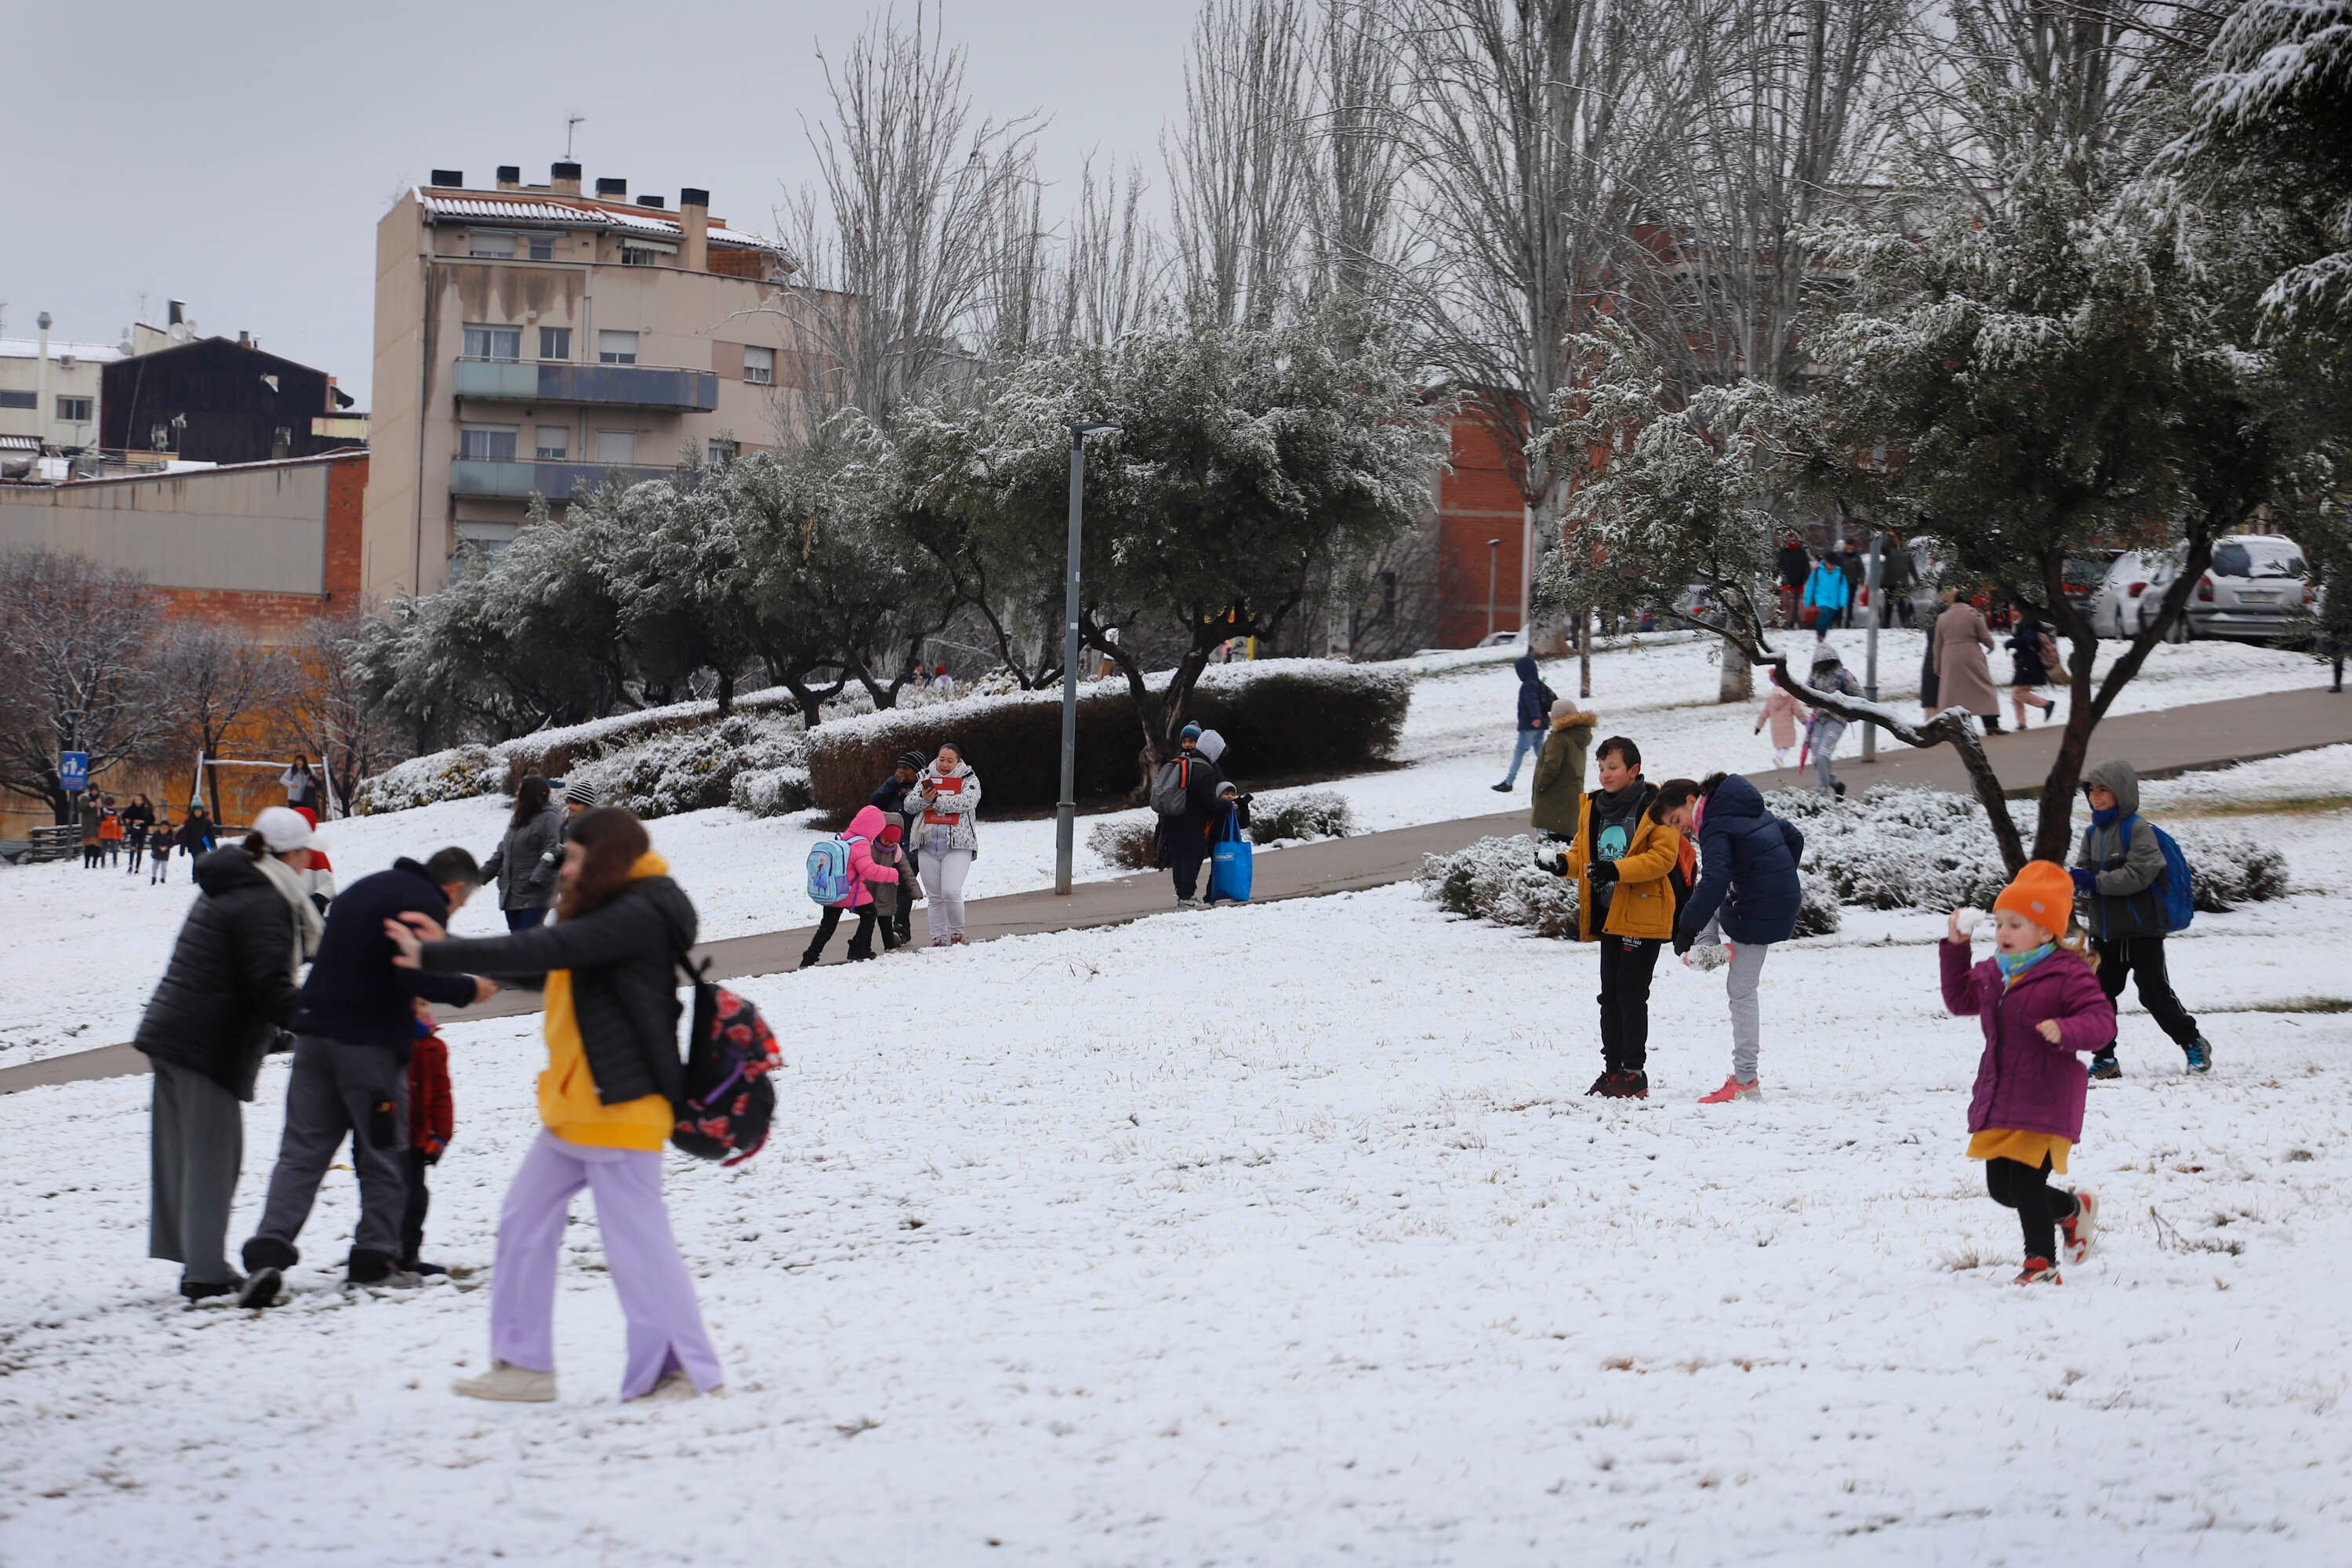
[[597, 1150], [539, 1128], [499, 1208], [499, 1262], [489, 1276], [489, 1354], [534, 1373], [555, 1371], [555, 1253], [572, 1194], [595, 1192], [604, 1267], [628, 1319], [621, 1399], [647, 1394], [682, 1366], [694, 1387], [727, 1382], [694, 1302], [694, 1279], [677, 1255], [670, 1211], [661, 1206], [661, 1154]]

